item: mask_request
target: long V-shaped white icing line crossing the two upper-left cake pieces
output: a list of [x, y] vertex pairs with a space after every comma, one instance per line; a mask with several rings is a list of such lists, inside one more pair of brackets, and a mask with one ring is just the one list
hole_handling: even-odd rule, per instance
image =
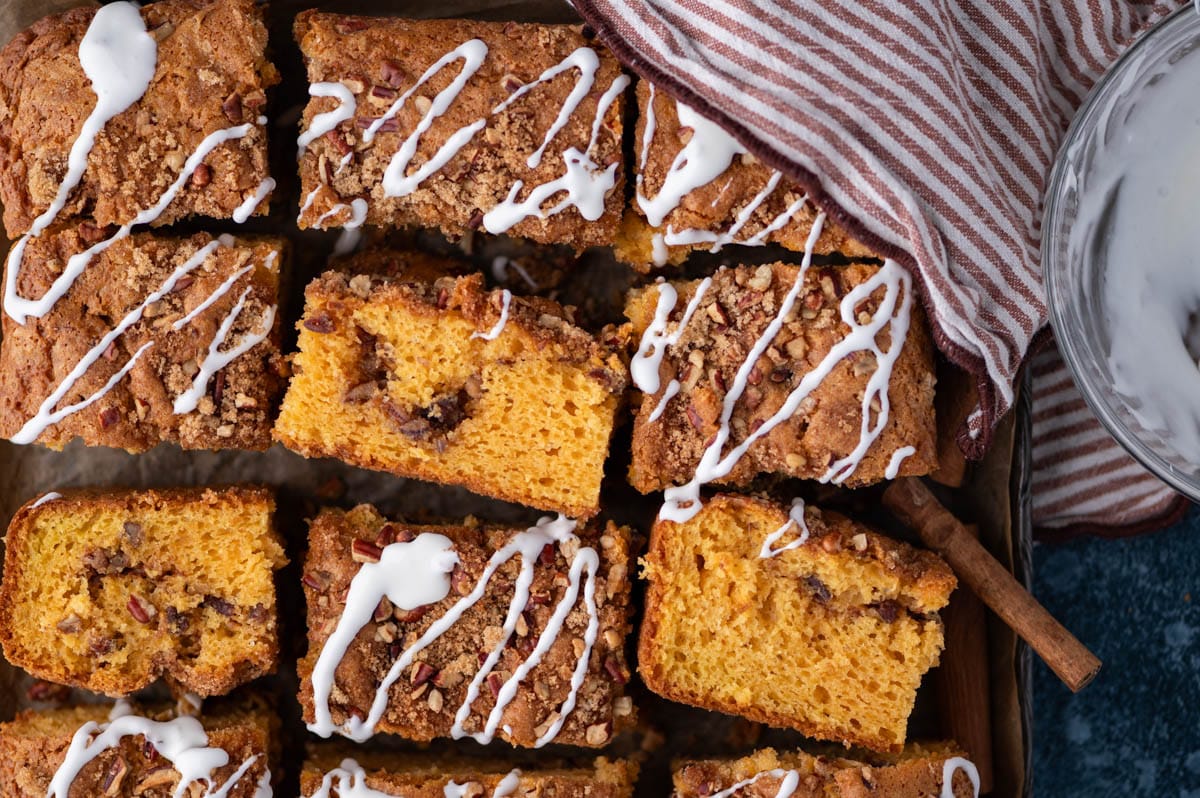
[[25, 245], [29, 242], [30, 235], [26, 234], [22, 236], [12, 247], [8, 254], [8, 269], [5, 280], [5, 295], [4, 295], [4, 307], [5, 312], [8, 313], [18, 324], [24, 324], [25, 319], [30, 316], [41, 318], [46, 316], [52, 307], [62, 298], [74, 281], [78, 280], [83, 270], [86, 269], [91, 259], [110, 247], [116, 241], [126, 238], [130, 232], [138, 224], [149, 224], [150, 222], [158, 218], [167, 206], [175, 199], [184, 185], [191, 179], [192, 173], [196, 168], [200, 166], [209, 152], [224, 144], [226, 142], [244, 138], [253, 130], [251, 124], [238, 125], [236, 127], [226, 127], [218, 131], [214, 131], [204, 137], [196, 151], [188, 156], [187, 161], [184, 163], [184, 168], [180, 169], [179, 175], [176, 175], [175, 181], [162, 193], [158, 202], [152, 206], [142, 210], [133, 218], [132, 222], [122, 224], [120, 229], [114, 233], [110, 238], [94, 244], [91, 247], [84, 250], [83, 252], [76, 253], [67, 259], [67, 265], [62, 270], [62, 274], [55, 278], [50, 288], [42, 295], [38, 300], [29, 300], [17, 294], [17, 278], [20, 271], [20, 264], [24, 260]]

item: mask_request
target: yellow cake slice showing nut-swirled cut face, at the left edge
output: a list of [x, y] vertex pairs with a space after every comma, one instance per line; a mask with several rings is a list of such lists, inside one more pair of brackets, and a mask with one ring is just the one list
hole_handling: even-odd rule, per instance
[[258, 487], [67, 491], [18, 510], [0, 646], [34, 676], [125, 696], [160, 676], [202, 696], [278, 656], [275, 499]]

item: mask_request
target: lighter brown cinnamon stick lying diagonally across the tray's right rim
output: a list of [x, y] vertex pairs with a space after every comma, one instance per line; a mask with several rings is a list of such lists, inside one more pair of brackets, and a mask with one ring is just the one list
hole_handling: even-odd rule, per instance
[[1100, 660], [1038, 604], [966, 527], [916, 478], [895, 480], [883, 504], [911, 527], [926, 546], [946, 558], [954, 572], [992, 612], [1012, 626], [1073, 691], [1084, 689]]

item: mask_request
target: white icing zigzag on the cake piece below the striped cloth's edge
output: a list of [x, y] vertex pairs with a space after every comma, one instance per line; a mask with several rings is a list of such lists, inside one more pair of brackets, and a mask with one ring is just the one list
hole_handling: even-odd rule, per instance
[[[749, 384], [748, 378], [750, 371], [755, 367], [755, 364], [758, 362], [758, 359], [770, 346], [772, 341], [774, 341], [775, 336], [779, 335], [779, 331], [784, 325], [784, 319], [787, 318], [793, 305], [799, 298], [800, 290], [804, 286], [804, 277], [812, 262], [812, 247], [821, 235], [821, 227], [823, 222], [824, 215], [820, 214], [814, 221], [812, 229], [809, 233], [809, 239], [804, 247], [804, 259], [800, 264], [799, 271], [797, 272], [796, 282], [792, 284], [792, 288], [780, 304], [780, 308], [775, 318], [772, 319], [766, 331], [763, 331], [751, 347], [746, 359], [738, 367], [737, 376], [734, 377], [733, 383], [722, 401], [720, 426], [718, 427], [713, 442], [704, 449], [700, 463], [696, 467], [695, 475], [686, 485], [670, 487], [666, 490], [665, 502], [659, 514], [660, 517], [676, 521], [677, 523], [683, 523], [700, 512], [702, 506], [700, 500], [701, 486], [726, 476], [756, 440], [769, 433], [787, 419], [792, 418], [800, 403], [809, 395], [811, 395], [822, 382], [824, 382], [826, 377], [829, 376], [833, 368], [841, 360], [854, 353], [869, 352], [875, 356], [876, 361], [876, 370], [871, 374], [866, 388], [863, 391], [863, 415], [858, 444], [853, 451], [829, 466], [826, 473], [820, 478], [821, 481], [834, 484], [845, 481], [858, 468], [858, 464], [862, 462], [868, 449], [870, 449], [870, 446], [878, 438], [880, 433], [883, 431], [883, 427], [887, 425], [888, 410], [890, 407], [888, 400], [888, 385], [892, 379], [893, 366], [899, 359], [900, 353], [904, 349], [904, 342], [908, 335], [910, 310], [912, 305], [911, 278], [907, 272], [893, 260], [884, 262], [883, 266], [877, 272], [859, 286], [856, 286], [842, 298], [840, 306], [841, 320], [850, 328], [846, 336], [829, 349], [816, 367], [804, 374], [796, 388], [792, 389], [792, 392], [788, 394], [782, 407], [780, 407], [774, 415], [763, 421], [757, 430], [750, 432], [745, 439], [734, 446], [727, 455], [722, 456], [721, 454], [730, 438], [730, 420], [733, 415], [733, 408], [745, 392], [746, 385]], [[859, 323], [856, 308], [880, 288], [884, 289], [884, 295], [880, 301], [878, 307], [865, 324]], [[670, 306], [667, 307], [667, 312], [670, 312]], [[666, 318], [666, 313], [662, 313], [662, 318]], [[884, 328], [889, 329], [890, 338], [890, 346], [887, 352], [883, 352], [876, 341], [876, 337]], [[647, 338], [652, 337], [652, 330], [653, 325], [652, 328], [648, 328], [646, 335], [643, 335], [643, 347], [646, 346]], [[661, 332], [655, 332], [655, 335], [661, 335]], [[641, 349], [638, 352], [641, 353]], [[636, 382], [637, 377], [635, 376], [635, 383]], [[638, 388], [642, 388], [641, 383], [638, 383]], [[644, 391], [646, 389], [642, 388], [642, 390]], [[872, 404], [875, 403], [878, 403], [878, 412], [874, 414], [875, 420], [872, 424]]]

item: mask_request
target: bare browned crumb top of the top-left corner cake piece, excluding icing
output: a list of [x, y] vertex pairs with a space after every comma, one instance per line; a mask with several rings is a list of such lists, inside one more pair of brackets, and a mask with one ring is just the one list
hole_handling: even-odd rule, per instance
[[[95, 14], [86, 7], [46, 17], [0, 52], [0, 200], [10, 236], [49, 206], [96, 106], [79, 61]], [[162, 0], [142, 16], [157, 42], [154, 78], [100, 131], [59, 217], [132, 221], [158, 202], [206, 136], [245, 124], [244, 136], [204, 158], [156, 222], [228, 218], [268, 175], [266, 132], [257, 119], [278, 76], [265, 58], [262, 12], [253, 0]]]

